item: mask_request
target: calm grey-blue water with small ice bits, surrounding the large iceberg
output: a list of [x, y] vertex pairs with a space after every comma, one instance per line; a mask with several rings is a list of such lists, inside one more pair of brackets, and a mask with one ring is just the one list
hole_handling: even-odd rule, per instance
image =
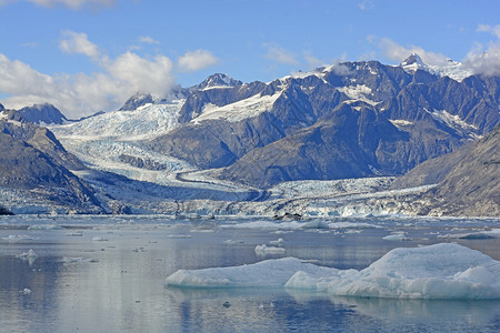
[[[252, 220], [1, 218], [0, 332], [500, 331], [500, 301], [377, 300], [284, 289], [163, 286], [164, 279], [179, 269], [296, 256], [359, 270], [393, 248], [448, 241], [500, 260], [500, 239], [438, 238], [500, 228], [498, 219], [349, 220], [379, 229], [223, 226], [248, 221]], [[407, 232], [410, 240], [382, 239], [394, 231]], [[284, 241], [284, 254], [256, 254], [256, 245], [279, 238]], [[29, 250], [38, 258], [19, 256]]]

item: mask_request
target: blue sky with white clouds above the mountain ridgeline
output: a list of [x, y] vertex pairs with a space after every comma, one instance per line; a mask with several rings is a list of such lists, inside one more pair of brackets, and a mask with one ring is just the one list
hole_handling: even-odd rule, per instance
[[500, 1], [0, 0], [0, 103], [72, 119], [218, 72], [269, 82], [411, 52], [500, 73]]

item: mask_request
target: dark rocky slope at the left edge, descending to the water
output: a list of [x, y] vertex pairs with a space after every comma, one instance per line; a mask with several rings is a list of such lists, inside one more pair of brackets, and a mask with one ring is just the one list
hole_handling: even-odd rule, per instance
[[69, 170], [87, 168], [52, 132], [14, 112], [0, 121], [0, 186], [77, 212], [103, 212], [94, 190]]

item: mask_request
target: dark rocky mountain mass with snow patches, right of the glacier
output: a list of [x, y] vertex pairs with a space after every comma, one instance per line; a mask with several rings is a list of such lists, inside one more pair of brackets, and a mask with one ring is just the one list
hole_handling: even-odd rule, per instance
[[[417, 57], [408, 62], [421, 61]], [[458, 82], [369, 61], [268, 84], [201, 84], [182, 108], [184, 124], [153, 140], [151, 148], [200, 169], [226, 168], [217, 174], [257, 186], [398, 175], [499, 124], [499, 83], [483, 77]], [[209, 103], [223, 107], [273, 94], [279, 97], [272, 107], [258, 115], [191, 122]]]

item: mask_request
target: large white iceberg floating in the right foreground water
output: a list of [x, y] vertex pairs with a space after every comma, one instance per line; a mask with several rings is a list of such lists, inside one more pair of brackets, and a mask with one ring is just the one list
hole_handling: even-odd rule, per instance
[[364, 270], [337, 270], [286, 258], [256, 264], [180, 270], [166, 286], [277, 287], [397, 299], [500, 299], [500, 262], [458, 244], [394, 249]]

